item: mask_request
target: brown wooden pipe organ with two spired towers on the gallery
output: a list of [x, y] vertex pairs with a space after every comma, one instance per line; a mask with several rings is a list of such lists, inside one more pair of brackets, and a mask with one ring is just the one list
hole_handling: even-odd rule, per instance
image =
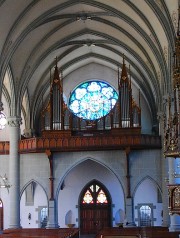
[[64, 102], [63, 77], [59, 74], [56, 62], [50, 86], [50, 100], [42, 110], [42, 137], [140, 135], [140, 96], [138, 105], [132, 96], [131, 80], [124, 58], [121, 77], [118, 73], [117, 81], [119, 98], [115, 106], [98, 120], [85, 120], [74, 115]]

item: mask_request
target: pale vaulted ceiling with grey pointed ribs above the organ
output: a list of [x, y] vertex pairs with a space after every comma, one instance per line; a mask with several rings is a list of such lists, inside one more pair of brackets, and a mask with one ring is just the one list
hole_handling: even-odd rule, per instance
[[117, 72], [124, 54], [156, 117], [171, 90], [177, 25], [178, 0], [0, 0], [0, 88], [10, 114], [22, 103], [24, 117], [37, 116], [56, 57], [66, 80], [91, 63]]

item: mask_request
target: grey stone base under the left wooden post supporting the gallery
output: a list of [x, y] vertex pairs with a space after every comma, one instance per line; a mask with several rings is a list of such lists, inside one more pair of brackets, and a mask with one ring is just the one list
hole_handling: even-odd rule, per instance
[[49, 200], [49, 217], [48, 217], [48, 223], [46, 226], [47, 229], [59, 228], [56, 217], [57, 217], [57, 214], [56, 214], [55, 200]]

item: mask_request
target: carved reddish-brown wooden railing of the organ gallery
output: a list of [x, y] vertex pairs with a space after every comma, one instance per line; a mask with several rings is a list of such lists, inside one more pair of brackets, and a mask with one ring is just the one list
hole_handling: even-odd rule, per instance
[[[124, 149], [160, 149], [161, 137], [152, 135], [99, 135], [30, 138], [19, 143], [20, 153]], [[0, 142], [0, 154], [9, 153], [9, 142]]]

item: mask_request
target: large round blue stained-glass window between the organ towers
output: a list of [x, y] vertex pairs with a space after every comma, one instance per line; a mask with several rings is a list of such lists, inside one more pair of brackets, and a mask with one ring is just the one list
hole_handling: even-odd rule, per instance
[[73, 90], [69, 99], [69, 108], [80, 118], [96, 120], [106, 116], [117, 99], [117, 92], [108, 83], [88, 81]]

